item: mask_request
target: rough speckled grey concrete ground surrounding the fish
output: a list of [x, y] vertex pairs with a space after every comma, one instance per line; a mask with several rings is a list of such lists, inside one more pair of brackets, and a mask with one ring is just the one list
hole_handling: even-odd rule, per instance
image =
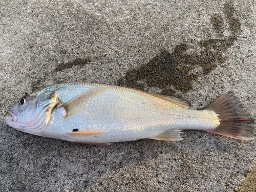
[[193, 109], [233, 90], [255, 119], [255, 4], [0, 0], [0, 191], [255, 191], [255, 140], [185, 131], [92, 146], [3, 121], [26, 93], [76, 81], [179, 95]]

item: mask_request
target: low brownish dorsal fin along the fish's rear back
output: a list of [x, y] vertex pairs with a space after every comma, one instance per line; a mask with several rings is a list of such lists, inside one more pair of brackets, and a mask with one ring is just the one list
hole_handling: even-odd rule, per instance
[[[131, 89], [134, 89], [134, 88], [131, 88]], [[151, 93], [151, 92], [142, 91], [142, 90], [139, 90], [139, 89], [134, 89], [134, 90], [141, 91], [143, 93], [147, 93], [147, 94], [153, 95], [153, 96], [158, 97], [160, 99], [163, 99], [163, 100], [175, 103], [177, 105], [180, 105], [180, 106], [182, 106], [182, 108], [189, 109], [189, 104], [187, 103], [187, 101], [185, 101], [181, 97], [161, 95], [161, 94], [158, 94], [158, 93]]]

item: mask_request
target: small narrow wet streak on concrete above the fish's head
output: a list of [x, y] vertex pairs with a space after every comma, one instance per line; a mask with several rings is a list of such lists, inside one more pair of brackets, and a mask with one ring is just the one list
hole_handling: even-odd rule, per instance
[[[53, 71], [48, 71], [47, 76], [42, 76], [41, 78], [38, 78], [36, 82], [33, 82], [31, 84], [32, 93], [39, 91], [44, 87], [44, 81], [47, 80], [48, 76], [55, 77], [55, 73], [59, 71], [63, 71], [65, 69], [70, 69], [73, 66], [78, 66], [79, 69], [82, 68], [84, 65], [89, 63], [91, 60], [89, 58], [76, 58], [73, 61], [67, 62], [67, 63], [60, 63]], [[61, 79], [54, 78], [55, 84], [63, 83]]]

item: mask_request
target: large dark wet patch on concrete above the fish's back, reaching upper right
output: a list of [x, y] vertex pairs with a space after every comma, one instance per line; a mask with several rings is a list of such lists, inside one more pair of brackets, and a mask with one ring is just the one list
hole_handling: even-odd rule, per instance
[[[241, 23], [234, 16], [234, 7], [230, 3], [224, 5], [224, 14], [230, 30], [227, 38], [198, 42], [197, 47], [201, 48], [201, 53], [196, 53], [193, 47], [185, 43], [177, 45], [172, 53], [164, 50], [138, 69], [127, 71], [125, 76], [118, 80], [118, 85], [141, 90], [157, 87], [162, 89], [163, 94], [173, 94], [176, 90], [182, 92], [190, 90], [191, 81], [198, 79], [197, 72], [192, 70], [201, 67], [205, 75], [215, 69], [217, 62], [225, 61], [223, 53], [241, 34]], [[223, 36], [224, 22], [219, 14], [211, 17], [211, 24], [214, 31], [219, 36]], [[192, 51], [188, 53], [189, 48]]]

